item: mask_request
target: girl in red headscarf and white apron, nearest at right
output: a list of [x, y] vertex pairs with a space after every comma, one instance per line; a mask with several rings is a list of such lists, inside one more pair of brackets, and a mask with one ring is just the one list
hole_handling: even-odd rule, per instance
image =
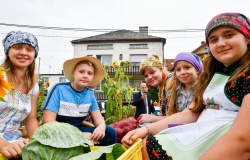
[[[240, 13], [219, 14], [208, 22], [205, 36], [211, 55], [194, 101], [122, 140], [129, 147], [143, 138], [144, 160], [250, 159], [250, 21]], [[168, 124], [183, 125], [166, 129]]]

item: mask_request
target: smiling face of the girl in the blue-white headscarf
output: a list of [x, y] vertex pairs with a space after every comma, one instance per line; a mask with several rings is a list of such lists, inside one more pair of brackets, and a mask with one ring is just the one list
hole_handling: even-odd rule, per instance
[[26, 68], [35, 58], [35, 49], [28, 44], [16, 44], [10, 47], [8, 56], [15, 67]]

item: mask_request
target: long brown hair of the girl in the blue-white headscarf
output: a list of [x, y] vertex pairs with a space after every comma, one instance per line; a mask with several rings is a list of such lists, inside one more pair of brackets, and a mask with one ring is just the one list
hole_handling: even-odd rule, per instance
[[[13, 66], [13, 63], [11, 62], [9, 56], [6, 56], [6, 58], [3, 62], [3, 67], [5, 69], [9, 69], [9, 71], [6, 72], [8, 82], [14, 86], [17, 86], [18, 82], [16, 80], [16, 76], [14, 75], [14, 66]], [[36, 84], [35, 67], [36, 67], [36, 61], [34, 59], [33, 62], [28, 66], [28, 69], [26, 71], [26, 78], [28, 81], [28, 87], [27, 87], [27, 90], [25, 91], [25, 94], [29, 93], [29, 91]]]

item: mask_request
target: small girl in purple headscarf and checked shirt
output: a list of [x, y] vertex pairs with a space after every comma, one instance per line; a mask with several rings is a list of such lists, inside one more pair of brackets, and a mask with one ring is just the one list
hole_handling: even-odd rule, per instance
[[171, 88], [167, 115], [183, 111], [192, 102], [198, 76], [202, 72], [202, 62], [193, 53], [181, 52], [174, 60], [175, 83]]

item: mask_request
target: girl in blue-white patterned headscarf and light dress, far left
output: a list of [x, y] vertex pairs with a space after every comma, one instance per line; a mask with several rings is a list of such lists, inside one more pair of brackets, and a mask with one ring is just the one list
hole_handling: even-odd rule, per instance
[[17, 158], [28, 143], [18, 130], [21, 122], [25, 122], [29, 136], [39, 127], [36, 116], [39, 86], [35, 76], [39, 48], [36, 37], [22, 31], [9, 32], [3, 46], [6, 57], [2, 66], [7, 70], [4, 78], [13, 89], [6, 90], [4, 102], [0, 102], [0, 154]]

